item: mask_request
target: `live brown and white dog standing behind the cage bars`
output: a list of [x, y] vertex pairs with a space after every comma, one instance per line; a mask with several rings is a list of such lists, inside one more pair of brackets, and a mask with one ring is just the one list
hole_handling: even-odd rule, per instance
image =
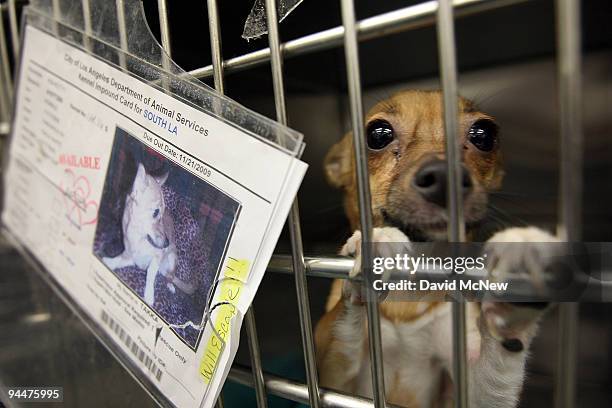
[[[459, 111], [463, 205], [467, 234], [472, 237], [485, 217], [487, 192], [500, 186], [503, 171], [494, 119], [463, 98]], [[400, 92], [376, 104], [365, 123], [373, 241], [445, 239], [447, 180], [441, 94]], [[356, 231], [341, 254], [358, 258], [361, 234], [354, 167], [352, 135], [347, 134], [328, 153], [325, 170], [329, 182], [344, 190], [345, 211]], [[489, 241], [548, 242], [556, 238], [530, 227], [498, 232]], [[526, 262], [524, 257], [533, 259]], [[534, 259], [533, 253], [514, 253], [505, 262], [540, 269], [542, 265]], [[352, 275], [359, 273], [359, 264], [355, 262]], [[541, 270], [525, 272], [538, 274]], [[317, 359], [322, 386], [371, 397], [366, 316], [357, 290], [348, 281], [334, 282], [327, 312], [315, 333]], [[544, 312], [540, 306], [468, 304], [470, 407], [516, 407], [529, 345]], [[379, 310], [388, 402], [411, 408], [450, 406], [450, 304], [387, 299]]]

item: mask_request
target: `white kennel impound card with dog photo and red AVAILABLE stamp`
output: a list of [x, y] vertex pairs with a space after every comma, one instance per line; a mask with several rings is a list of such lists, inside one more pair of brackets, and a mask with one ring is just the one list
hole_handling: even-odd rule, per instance
[[214, 403], [305, 171], [26, 27], [3, 226], [172, 404]]

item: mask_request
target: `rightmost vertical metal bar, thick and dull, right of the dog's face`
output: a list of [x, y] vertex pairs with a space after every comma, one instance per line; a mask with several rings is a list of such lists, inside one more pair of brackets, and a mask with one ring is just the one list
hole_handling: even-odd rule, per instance
[[[566, 242], [582, 239], [582, 84], [580, 1], [557, 1], [559, 117], [561, 162], [559, 237]], [[578, 303], [559, 305], [558, 365], [555, 406], [570, 408], [576, 402]]]

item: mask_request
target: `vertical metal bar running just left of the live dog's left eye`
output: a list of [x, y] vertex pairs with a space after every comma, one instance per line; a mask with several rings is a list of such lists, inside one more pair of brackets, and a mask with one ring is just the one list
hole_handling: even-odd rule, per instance
[[[357, 25], [355, 23], [355, 5], [353, 4], [353, 0], [341, 0], [340, 6], [342, 9], [342, 25], [344, 26], [344, 53], [357, 172], [357, 195], [359, 199], [359, 221], [361, 228], [361, 272], [362, 275], [365, 275], [368, 273], [371, 265], [372, 202], [370, 196], [370, 176], [368, 172], [368, 153], [365, 146], [366, 138], [363, 126], [359, 45], [357, 43]], [[365, 293], [366, 312], [368, 316], [368, 344], [370, 351], [370, 366], [372, 370], [372, 393], [376, 407], [385, 407], [385, 376], [378, 299], [377, 294], [367, 285], [365, 286]]]

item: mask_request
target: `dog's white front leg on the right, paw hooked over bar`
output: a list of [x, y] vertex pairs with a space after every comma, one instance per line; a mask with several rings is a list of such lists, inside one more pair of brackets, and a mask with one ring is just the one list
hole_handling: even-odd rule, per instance
[[[550, 251], [557, 239], [537, 228], [511, 228], [495, 234], [487, 245], [494, 258], [489, 274], [504, 280], [510, 274], [543, 284]], [[525, 243], [526, 245], [516, 245]], [[471, 407], [514, 408], [523, 387], [529, 346], [548, 303], [483, 302], [478, 319], [480, 351], [469, 367]]]

